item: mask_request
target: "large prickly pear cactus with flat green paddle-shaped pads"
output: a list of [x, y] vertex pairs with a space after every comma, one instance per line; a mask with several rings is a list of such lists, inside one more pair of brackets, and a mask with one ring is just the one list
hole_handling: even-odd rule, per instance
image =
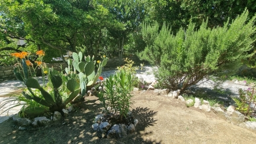
[[[98, 62], [98, 72], [95, 75], [94, 65], [96, 62], [92, 61], [93, 58], [85, 57], [86, 62], [82, 62], [82, 53], [73, 53], [73, 58], [73, 61], [68, 60], [69, 66], [65, 69], [65, 72], [67, 72], [65, 75], [55, 69], [46, 69], [46, 73], [49, 73], [47, 87], [41, 87], [37, 79], [28, 76], [26, 60], [22, 59], [23, 74], [18, 72], [17, 68], [15, 68], [14, 73], [18, 80], [24, 82], [28, 91], [23, 91], [23, 97], [19, 97], [18, 100], [24, 101], [27, 99], [26, 101], [28, 102], [34, 101], [33, 103], [37, 103], [37, 105], [27, 103], [27, 106], [20, 111], [23, 116], [38, 116], [54, 111], [59, 111], [63, 114], [62, 109], [66, 108], [68, 103], [83, 97], [86, 88], [95, 84], [101, 73], [102, 66], [107, 63], [107, 58], [103, 56], [103, 62]], [[9, 102], [14, 100], [15, 98], [12, 98]], [[8, 101], [5, 105], [7, 103]]]

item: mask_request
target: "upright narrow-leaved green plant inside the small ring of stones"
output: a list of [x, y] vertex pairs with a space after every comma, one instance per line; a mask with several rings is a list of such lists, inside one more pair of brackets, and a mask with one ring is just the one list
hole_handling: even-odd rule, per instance
[[132, 74], [129, 71], [121, 69], [115, 75], [111, 75], [106, 79], [104, 82], [105, 90], [98, 94], [105, 110], [113, 114], [113, 116], [117, 116], [119, 113], [120, 121], [122, 121], [123, 117], [126, 117], [130, 104], [132, 104], [131, 98], [133, 96], [130, 94], [132, 90], [131, 78]]

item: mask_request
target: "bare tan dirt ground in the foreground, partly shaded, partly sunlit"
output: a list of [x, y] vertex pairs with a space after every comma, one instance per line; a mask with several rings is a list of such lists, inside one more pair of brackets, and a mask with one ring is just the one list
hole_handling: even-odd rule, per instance
[[256, 131], [220, 119], [213, 112], [153, 91], [134, 92], [131, 109], [136, 132], [120, 139], [99, 139], [91, 125], [101, 113], [97, 97], [87, 97], [76, 112], [47, 127], [17, 130], [11, 119], [0, 124], [0, 143], [255, 143]]

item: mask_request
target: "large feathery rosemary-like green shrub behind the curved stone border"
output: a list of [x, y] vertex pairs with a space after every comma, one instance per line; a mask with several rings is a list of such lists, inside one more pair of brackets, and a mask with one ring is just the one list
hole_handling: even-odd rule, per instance
[[143, 24], [142, 36], [146, 48], [139, 53], [140, 59], [148, 60], [158, 66], [155, 73], [162, 87], [171, 90], [196, 84], [210, 73], [230, 75], [236, 72], [242, 60], [251, 56], [255, 32], [255, 17], [247, 21], [248, 11], [225, 23], [223, 27], [207, 28], [207, 21], [199, 30], [190, 23], [180, 28], [174, 36], [171, 28], [165, 24], [159, 30], [159, 24]]

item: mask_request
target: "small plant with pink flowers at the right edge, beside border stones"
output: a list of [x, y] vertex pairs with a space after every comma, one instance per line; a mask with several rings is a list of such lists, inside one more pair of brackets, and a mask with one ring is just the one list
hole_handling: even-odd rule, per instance
[[246, 91], [239, 88], [239, 98], [233, 98], [233, 100], [236, 103], [236, 110], [241, 112], [242, 114], [245, 114], [245, 116], [250, 116], [253, 112], [254, 108], [251, 108], [251, 103], [256, 104], [256, 94], [254, 92], [254, 88], [249, 88]]

